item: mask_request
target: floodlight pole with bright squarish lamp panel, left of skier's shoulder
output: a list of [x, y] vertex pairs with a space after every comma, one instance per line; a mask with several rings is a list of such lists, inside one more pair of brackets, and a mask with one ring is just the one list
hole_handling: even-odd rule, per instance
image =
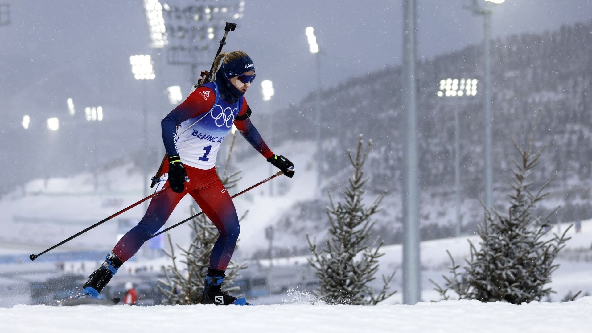
[[[147, 140], [147, 132], [148, 132], [148, 102], [147, 102], [147, 80], [153, 80], [156, 78], [154, 73], [154, 69], [152, 67], [152, 59], [150, 55], [139, 55], [139, 56], [130, 56], [130, 65], [131, 65], [131, 72], [134, 74], [134, 78], [137, 80], [144, 80], [143, 84], [143, 100], [144, 100], [144, 114], [143, 114], [143, 148], [144, 154], [140, 154], [142, 156], [142, 182], [144, 184], [144, 197], [148, 196], [148, 161], [147, 161], [147, 154], [148, 154], [148, 140]], [[144, 201], [144, 208], [147, 208], [148, 203]]]

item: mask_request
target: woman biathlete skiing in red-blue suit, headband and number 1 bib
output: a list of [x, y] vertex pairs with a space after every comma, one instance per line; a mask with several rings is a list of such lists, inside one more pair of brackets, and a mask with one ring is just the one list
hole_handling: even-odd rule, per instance
[[160, 184], [166, 182], [164, 185], [170, 185], [171, 190], [152, 198], [140, 223], [120, 239], [101, 267], [89, 276], [83, 285], [85, 297], [99, 297], [121, 265], [165, 224], [179, 200], [190, 194], [220, 231], [210, 257], [202, 303], [248, 304], [244, 298], [237, 299], [220, 288], [240, 226], [230, 195], [216, 174], [216, 154], [235, 124], [240, 134], [288, 177], [294, 176], [294, 165], [269, 150], [249, 119], [251, 110], [243, 95], [255, 79], [253, 60], [242, 51], [221, 52], [215, 58], [214, 71], [215, 81], [198, 87], [162, 120], [169, 163], [163, 168]]

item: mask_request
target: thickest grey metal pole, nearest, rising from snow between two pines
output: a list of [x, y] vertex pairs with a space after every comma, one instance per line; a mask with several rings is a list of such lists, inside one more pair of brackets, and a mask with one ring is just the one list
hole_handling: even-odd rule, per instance
[[405, 177], [403, 184], [403, 303], [421, 300], [416, 123], [416, 1], [403, 1], [403, 108], [405, 120]]

